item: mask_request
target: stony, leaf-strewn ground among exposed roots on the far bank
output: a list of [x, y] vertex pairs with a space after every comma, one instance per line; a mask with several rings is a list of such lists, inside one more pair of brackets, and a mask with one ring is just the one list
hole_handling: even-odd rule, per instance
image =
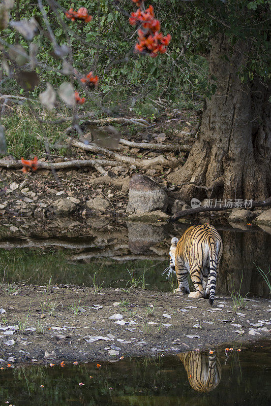
[[[166, 110], [165, 113], [151, 121], [152, 125], [148, 128], [126, 124], [115, 125], [115, 127], [121, 133], [121, 137], [127, 141], [145, 142], [146, 145], [148, 143], [157, 145], [161, 143], [164, 145], [173, 143], [176, 146], [182, 144], [192, 146], [199, 120], [198, 113], [189, 110]], [[23, 120], [24, 117], [21, 117], [20, 121]], [[16, 125], [8, 121], [7, 125], [9, 125], [7, 127], [8, 133], [16, 133]], [[87, 134], [88, 132], [89, 128], [85, 127], [84, 133]], [[65, 131], [63, 134], [65, 135]], [[74, 134], [74, 137], [77, 138], [76, 134]], [[23, 142], [26, 141], [24, 140]], [[14, 155], [8, 155], [3, 157], [3, 159], [20, 158], [19, 154], [23, 150], [16, 150], [21, 145], [20, 142], [20, 140], [17, 140], [16, 145], [9, 147], [9, 150], [14, 152]], [[88, 142], [87, 136], [86, 142]], [[172, 152], [161, 152], [152, 149], [132, 148], [121, 144], [118, 147], [121, 149], [121, 151], [118, 151], [119, 154], [137, 160], [163, 155], [166, 159], [176, 157], [180, 163], [183, 163], [188, 156], [188, 151], [180, 151], [178, 149]], [[36, 148], [38, 147], [36, 146]], [[26, 153], [26, 151], [24, 152]], [[24, 158], [33, 157], [35, 153], [35, 147], [33, 146], [32, 153], [27, 156], [24, 155]], [[39, 161], [48, 162], [45, 152], [40, 152], [40, 154], [38, 155]], [[106, 159], [107, 157], [103, 154], [90, 153], [74, 147], [59, 150], [58, 153], [52, 153], [53, 162], [56, 163], [93, 158]], [[0, 168], [0, 186], [2, 189], [2, 194], [0, 195], [0, 215], [48, 217], [54, 213], [54, 202], [60, 198], [69, 198], [75, 202], [76, 208], [74, 214], [82, 215], [83, 213], [83, 215], [87, 215], [89, 210], [86, 209], [85, 202], [89, 198], [94, 197], [102, 197], [110, 202], [108, 209], [110, 214], [117, 213], [122, 215], [126, 211], [128, 202], [129, 179], [137, 172], [155, 179], [169, 193], [176, 190], [176, 187], [172, 183], [167, 182], [167, 176], [175, 170], [171, 167], [163, 167], [156, 164], [144, 169], [138, 168], [136, 165], [119, 162], [116, 166], [108, 165], [104, 169], [107, 171], [106, 176], [101, 176], [92, 167], [59, 170], [57, 171], [57, 176], [60, 182], [57, 183], [51, 171], [47, 169], [41, 169], [25, 175], [21, 169], [2, 167]], [[94, 211], [94, 214], [99, 215], [100, 212]]]

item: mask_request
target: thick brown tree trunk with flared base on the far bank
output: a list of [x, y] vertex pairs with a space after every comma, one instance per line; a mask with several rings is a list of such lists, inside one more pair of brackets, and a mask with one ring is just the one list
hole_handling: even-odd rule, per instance
[[187, 162], [169, 178], [179, 185], [194, 182], [180, 188], [182, 199], [271, 194], [271, 86], [258, 78], [242, 84], [238, 73], [247, 55], [245, 43], [231, 46], [223, 34], [212, 40], [209, 78], [217, 78], [217, 90], [206, 100], [199, 139]]

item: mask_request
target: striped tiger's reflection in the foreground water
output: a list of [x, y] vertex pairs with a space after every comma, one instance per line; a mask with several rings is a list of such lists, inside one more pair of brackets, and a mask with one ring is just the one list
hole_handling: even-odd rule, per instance
[[178, 354], [187, 371], [191, 388], [198, 392], [211, 392], [221, 379], [221, 363], [216, 354], [188, 351]]

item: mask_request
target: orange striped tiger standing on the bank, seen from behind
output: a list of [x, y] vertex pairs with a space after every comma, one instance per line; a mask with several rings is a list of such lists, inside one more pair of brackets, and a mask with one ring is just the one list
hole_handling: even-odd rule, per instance
[[[189, 293], [189, 297], [209, 297], [211, 306], [216, 293], [219, 263], [223, 251], [221, 236], [213, 225], [189, 227], [182, 237], [171, 239], [169, 275], [174, 272], [178, 280], [175, 293]], [[188, 272], [195, 288], [190, 292]]]

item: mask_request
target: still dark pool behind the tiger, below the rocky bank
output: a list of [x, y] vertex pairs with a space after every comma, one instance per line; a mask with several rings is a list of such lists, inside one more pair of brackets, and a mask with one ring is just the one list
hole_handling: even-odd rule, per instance
[[[95, 281], [102, 287], [125, 287], [131, 274], [141, 281], [144, 274], [143, 287], [160, 291], [172, 290], [162, 277], [171, 238], [179, 238], [189, 226], [99, 219], [22, 221], [21, 226], [16, 223], [15, 233], [9, 230], [10, 224], [0, 227], [0, 282], [93, 286]], [[268, 272], [270, 233], [243, 224], [242, 228], [214, 225], [224, 244], [217, 293], [228, 295], [240, 289], [243, 296], [267, 298], [268, 286], [256, 265]]]

